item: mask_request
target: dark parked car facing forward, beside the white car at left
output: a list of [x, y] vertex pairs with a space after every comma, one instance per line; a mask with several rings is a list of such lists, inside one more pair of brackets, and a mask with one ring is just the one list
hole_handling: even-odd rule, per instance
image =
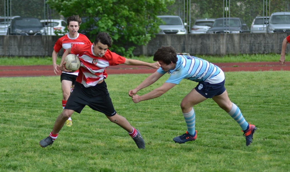
[[46, 31], [38, 18], [16, 17], [11, 21], [9, 35], [46, 35]]

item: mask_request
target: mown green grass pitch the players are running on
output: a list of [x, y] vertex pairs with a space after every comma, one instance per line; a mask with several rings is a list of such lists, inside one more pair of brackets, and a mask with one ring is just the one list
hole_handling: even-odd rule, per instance
[[73, 114], [73, 126], [62, 128], [52, 146], [41, 148], [38, 142], [62, 111], [59, 76], [0, 78], [0, 171], [289, 171], [290, 71], [225, 75], [231, 101], [258, 128], [250, 146], [211, 99], [194, 107], [197, 139], [175, 144], [172, 138], [186, 131], [180, 102], [196, 83], [183, 80], [161, 97], [135, 104], [128, 90], [148, 74], [124, 74], [110, 75], [106, 83], [117, 113], [142, 133], [145, 150], [89, 107]]

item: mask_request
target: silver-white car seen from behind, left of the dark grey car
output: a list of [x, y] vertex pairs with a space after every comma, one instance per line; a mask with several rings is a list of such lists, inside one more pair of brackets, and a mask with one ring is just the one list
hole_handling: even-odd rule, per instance
[[206, 33], [209, 28], [213, 25], [215, 19], [196, 19], [194, 25], [191, 27], [190, 33], [199, 34]]

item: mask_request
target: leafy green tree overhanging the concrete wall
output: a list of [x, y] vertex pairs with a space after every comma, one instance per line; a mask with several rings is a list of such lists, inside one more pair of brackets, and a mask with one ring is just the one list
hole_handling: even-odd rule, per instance
[[[90, 31], [89, 39], [94, 41], [98, 32], [107, 32], [113, 39], [114, 51], [132, 55], [133, 45], [146, 45], [159, 32], [156, 16], [166, 11], [174, 0], [47, 0], [50, 8], [64, 17], [78, 14], [90, 17], [81, 29], [96, 26]], [[98, 20], [95, 22], [94, 17]]]

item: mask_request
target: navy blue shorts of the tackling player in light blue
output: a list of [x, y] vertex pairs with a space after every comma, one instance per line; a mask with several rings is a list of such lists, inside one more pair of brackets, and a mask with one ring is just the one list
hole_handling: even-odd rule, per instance
[[202, 96], [206, 98], [212, 98], [213, 96], [218, 96], [226, 91], [224, 87], [224, 81], [218, 84], [211, 84], [208, 82], [199, 82], [195, 87], [195, 90], [199, 92]]

